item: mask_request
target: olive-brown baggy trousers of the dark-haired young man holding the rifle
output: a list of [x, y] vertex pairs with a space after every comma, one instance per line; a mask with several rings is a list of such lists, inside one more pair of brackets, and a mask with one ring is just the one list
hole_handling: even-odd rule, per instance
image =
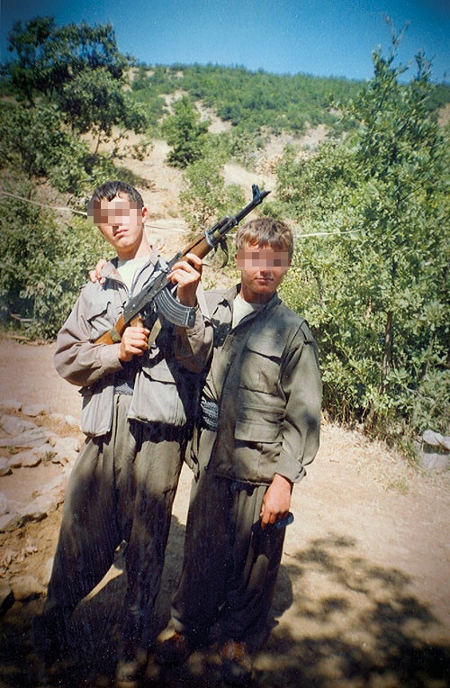
[[44, 614], [73, 611], [124, 540], [125, 626], [141, 633], [159, 590], [184, 439], [182, 430], [128, 421], [130, 396], [116, 394], [114, 404], [111, 432], [86, 439], [69, 477]]

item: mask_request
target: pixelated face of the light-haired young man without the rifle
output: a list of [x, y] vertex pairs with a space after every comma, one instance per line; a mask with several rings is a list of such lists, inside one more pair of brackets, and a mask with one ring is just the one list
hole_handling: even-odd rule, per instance
[[258, 244], [246, 244], [236, 254], [241, 274], [240, 294], [249, 303], [267, 303], [291, 265], [288, 252]]

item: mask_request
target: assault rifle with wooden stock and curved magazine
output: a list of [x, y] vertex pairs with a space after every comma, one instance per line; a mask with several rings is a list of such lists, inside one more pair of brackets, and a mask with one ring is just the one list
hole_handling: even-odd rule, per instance
[[155, 270], [149, 278], [148, 283], [143, 286], [139, 294], [132, 296], [130, 301], [126, 304], [123, 313], [119, 320], [115, 323], [112, 330], [105, 332], [99, 339], [95, 340], [95, 344], [114, 344], [121, 340], [124, 330], [133, 323], [133, 321], [142, 320], [153, 316], [154, 320], [157, 318], [157, 313], [161, 312], [166, 320], [181, 325], [182, 327], [193, 327], [195, 321], [195, 308], [184, 306], [182, 303], [176, 301], [172, 290], [172, 285], [167, 280], [167, 275], [172, 271], [179, 260], [184, 258], [187, 253], [193, 253], [198, 258], [204, 258], [211, 250], [217, 249], [218, 246], [228, 256], [226, 235], [233, 227], [243, 220], [248, 213], [257, 207], [270, 194], [270, 191], [259, 191], [256, 184], [252, 186], [253, 198], [249, 204], [242, 208], [234, 217], [226, 215], [219, 222], [217, 222], [211, 230], [205, 230], [197, 234], [197, 236], [186, 246], [183, 250], [178, 251], [174, 258], [167, 263], [157, 261]]

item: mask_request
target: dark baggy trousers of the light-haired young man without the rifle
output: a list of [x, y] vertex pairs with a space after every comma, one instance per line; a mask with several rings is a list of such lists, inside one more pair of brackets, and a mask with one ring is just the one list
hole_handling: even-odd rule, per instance
[[[215, 433], [202, 431], [199, 456], [210, 457]], [[207, 461], [206, 461], [207, 463]], [[179, 632], [202, 638], [219, 621], [223, 638], [261, 632], [274, 597], [284, 530], [261, 530], [267, 485], [211, 475], [193, 482], [183, 571], [172, 602]]]

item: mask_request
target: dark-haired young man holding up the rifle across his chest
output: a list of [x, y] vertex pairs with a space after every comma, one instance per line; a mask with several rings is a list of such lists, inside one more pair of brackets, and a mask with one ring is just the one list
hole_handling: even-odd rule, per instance
[[[148, 623], [212, 331], [199, 308], [202, 261], [188, 254], [189, 262], [177, 262], [166, 279], [177, 285], [176, 308], [187, 312], [191, 326], [160, 318], [160, 330], [153, 330], [153, 321], [138, 320], [120, 336], [114, 326], [130, 296], [160, 266], [144, 232], [148, 211], [139, 192], [121, 182], [97, 188], [88, 210], [117, 255], [103, 267], [101, 280], [85, 285], [58, 333], [55, 364], [62, 377], [81, 386], [87, 437], [67, 485], [48, 596], [36, 627], [51, 664], [67, 649], [76, 604], [101, 581], [124, 542], [128, 583], [120, 682], [146, 664]], [[102, 335], [111, 343], [98, 343]]]

